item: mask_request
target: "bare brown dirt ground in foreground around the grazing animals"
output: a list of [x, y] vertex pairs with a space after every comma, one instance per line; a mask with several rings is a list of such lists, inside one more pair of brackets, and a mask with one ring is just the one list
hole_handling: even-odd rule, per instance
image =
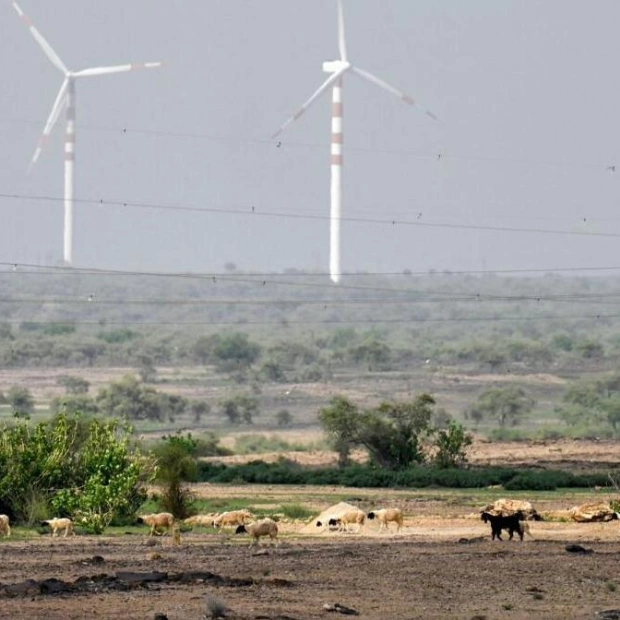
[[[212, 617], [214, 602], [228, 608], [221, 617], [243, 620], [338, 618], [323, 608], [336, 603], [364, 620], [594, 619], [620, 608], [618, 521], [531, 522], [525, 541], [492, 542], [467, 494], [206, 484], [195, 491], [260, 496], [274, 506], [303, 497], [317, 511], [333, 493], [364, 509], [399, 505], [407, 517], [399, 534], [371, 522], [360, 533], [313, 534], [303, 533], [305, 522], [281, 523], [278, 548], [258, 551], [243, 535], [200, 530], [183, 534], [180, 546], [135, 534], [3, 540], [0, 618], [198, 620]], [[535, 507], [573, 501], [550, 494]], [[592, 551], [567, 552], [575, 543]], [[50, 578], [63, 583], [41, 583]]]

